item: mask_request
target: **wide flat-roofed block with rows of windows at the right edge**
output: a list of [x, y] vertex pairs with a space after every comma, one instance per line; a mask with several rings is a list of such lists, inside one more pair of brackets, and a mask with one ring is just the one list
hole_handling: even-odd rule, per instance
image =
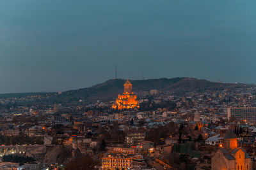
[[248, 124], [255, 124], [256, 122], [256, 107], [246, 108], [228, 108], [228, 120], [237, 120], [246, 122]]

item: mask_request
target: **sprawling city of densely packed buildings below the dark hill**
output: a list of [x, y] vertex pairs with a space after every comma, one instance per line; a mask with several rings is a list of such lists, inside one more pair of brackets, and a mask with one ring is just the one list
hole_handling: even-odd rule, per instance
[[[156, 81], [168, 80], [150, 80], [145, 87], [152, 88], [134, 92], [133, 81], [100, 86], [105, 97], [109, 87], [124, 85], [121, 101], [67, 98], [72, 92], [1, 97], [0, 169], [256, 168], [255, 122], [228, 117], [228, 110], [253, 115], [256, 87], [178, 92], [157, 89]], [[135, 105], [125, 103], [131, 94]], [[122, 109], [113, 108], [116, 101]]]

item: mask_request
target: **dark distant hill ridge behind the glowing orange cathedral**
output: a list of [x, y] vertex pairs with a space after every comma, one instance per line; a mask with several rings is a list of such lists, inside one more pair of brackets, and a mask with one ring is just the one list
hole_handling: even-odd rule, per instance
[[[118, 94], [124, 91], [124, 83], [126, 80], [116, 79], [108, 80], [92, 87], [87, 87], [78, 90], [68, 90], [62, 94], [48, 93], [47, 101], [49, 103], [72, 103], [82, 99], [86, 103], [100, 101], [109, 101], [115, 99]], [[235, 83], [217, 83], [207, 80], [200, 80], [196, 78], [159, 78], [149, 80], [130, 80], [132, 83], [132, 91], [148, 91], [157, 89], [161, 91], [177, 92], [184, 94], [184, 92], [204, 91], [204, 90], [223, 90], [225, 88], [243, 88], [252, 85], [235, 84]], [[28, 96], [42, 94], [29, 93]], [[43, 93], [46, 95], [46, 93]], [[11, 94], [10, 97], [24, 97], [26, 94]], [[0, 95], [0, 98], [7, 97], [8, 94]]]

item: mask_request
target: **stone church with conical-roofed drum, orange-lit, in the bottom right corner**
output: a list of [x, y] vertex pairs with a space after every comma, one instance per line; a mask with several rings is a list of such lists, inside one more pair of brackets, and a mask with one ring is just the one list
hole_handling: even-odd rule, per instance
[[251, 170], [252, 162], [243, 148], [237, 147], [237, 137], [233, 131], [228, 131], [223, 145], [211, 159], [212, 170]]

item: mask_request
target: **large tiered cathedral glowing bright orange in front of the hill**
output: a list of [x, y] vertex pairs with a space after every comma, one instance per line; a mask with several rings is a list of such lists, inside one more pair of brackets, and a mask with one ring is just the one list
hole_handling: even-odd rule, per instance
[[115, 110], [140, 108], [137, 96], [132, 92], [132, 83], [129, 80], [127, 80], [124, 84], [124, 93], [118, 94], [112, 108]]

